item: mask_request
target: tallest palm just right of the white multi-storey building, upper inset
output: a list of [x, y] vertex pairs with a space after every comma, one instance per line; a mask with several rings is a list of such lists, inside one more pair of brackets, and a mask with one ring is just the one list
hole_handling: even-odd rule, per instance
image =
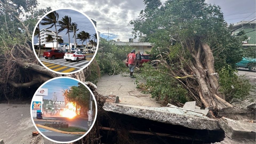
[[[71, 27], [71, 17], [65, 15], [64, 17], [62, 17], [62, 19], [60, 21], [58, 21], [58, 26], [60, 26], [61, 28], [58, 30], [58, 33], [67, 29], [66, 34], [69, 34], [70, 32], [70, 27]], [[69, 37], [69, 48], [68, 51], [70, 51], [70, 37]]]

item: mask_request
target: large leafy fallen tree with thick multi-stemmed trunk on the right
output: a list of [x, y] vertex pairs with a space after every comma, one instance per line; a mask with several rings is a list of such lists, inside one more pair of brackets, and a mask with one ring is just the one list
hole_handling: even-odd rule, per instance
[[[246, 36], [231, 36], [221, 8], [204, 0], [144, 3], [146, 8], [139, 18], [130, 22], [135, 38], [154, 45], [150, 53], [155, 58], [151, 63], [154, 68], [142, 68], [142, 77], [147, 80], [144, 88], [167, 102], [183, 95], [176, 102], [195, 100], [204, 107], [232, 106], [230, 94], [235, 90], [224, 90], [222, 85], [232, 87], [229, 78], [233, 77], [233, 82], [239, 82], [234, 68], [242, 58], [241, 42]], [[228, 71], [224, 81], [229, 82], [223, 82], [218, 74], [224, 68]], [[245, 93], [240, 98], [249, 92], [243, 88]]]

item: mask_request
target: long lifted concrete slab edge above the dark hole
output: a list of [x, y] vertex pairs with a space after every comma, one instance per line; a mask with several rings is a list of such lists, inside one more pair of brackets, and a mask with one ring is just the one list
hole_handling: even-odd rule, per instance
[[219, 130], [218, 120], [210, 119], [201, 113], [172, 107], [148, 107], [105, 102], [106, 111], [150, 119], [191, 129]]

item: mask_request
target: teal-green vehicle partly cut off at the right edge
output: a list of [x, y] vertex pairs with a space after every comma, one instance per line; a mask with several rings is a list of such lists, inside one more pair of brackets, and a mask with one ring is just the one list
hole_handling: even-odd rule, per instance
[[243, 58], [242, 61], [236, 63], [237, 67], [243, 67], [249, 69], [250, 71], [256, 72], [255, 65], [256, 59], [255, 58]]

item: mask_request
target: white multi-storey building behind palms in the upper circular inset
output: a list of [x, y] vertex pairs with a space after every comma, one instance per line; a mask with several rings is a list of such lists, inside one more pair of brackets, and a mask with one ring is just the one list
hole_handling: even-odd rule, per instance
[[[41, 42], [41, 45], [44, 45], [46, 43], [52, 43], [52, 42], [46, 42], [46, 37], [48, 37], [48, 35], [51, 35], [53, 37], [53, 42], [57, 42], [57, 35], [56, 35], [55, 31], [48, 30], [48, 29], [41, 29], [40, 30], [40, 42]], [[62, 38], [62, 35], [58, 35], [58, 39], [60, 39], [60, 38]], [[37, 45], [39, 45], [39, 38], [38, 38]], [[56, 46], [56, 43], [55, 43], [55, 46]]]

